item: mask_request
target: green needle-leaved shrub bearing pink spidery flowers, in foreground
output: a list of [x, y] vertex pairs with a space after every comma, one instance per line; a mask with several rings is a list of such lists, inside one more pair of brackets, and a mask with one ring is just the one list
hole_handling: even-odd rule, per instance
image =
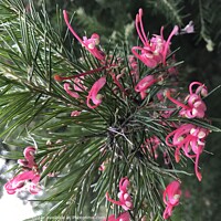
[[[10, 7], [9, 12], [21, 13], [12, 2]], [[103, 44], [97, 33], [81, 38], [66, 10], [65, 36], [33, 22], [42, 19], [33, 6], [21, 14], [17, 24], [8, 25], [23, 22], [25, 35], [17, 34], [35, 55], [30, 59], [10, 34], [19, 55], [7, 48], [10, 43], [3, 45], [4, 63], [12, 71], [3, 75], [10, 86], [2, 96], [18, 93], [18, 115], [4, 115], [15, 126], [6, 120], [6, 128], [10, 133], [24, 128], [20, 136], [28, 144], [34, 140], [34, 147], [18, 157], [17, 173], [4, 185], [7, 192], [28, 189], [36, 200], [52, 203], [45, 219], [81, 217], [85, 208], [106, 221], [170, 218], [182, 201], [183, 175], [202, 180], [199, 165], [207, 136], [220, 131], [207, 115], [207, 86], [198, 81], [189, 91], [179, 85], [182, 62], [176, 61], [172, 40], [192, 33], [192, 24], [175, 25], [168, 38], [164, 27], [159, 35], [147, 36], [139, 9], [135, 30], [140, 42], [115, 46]], [[67, 48], [66, 35], [75, 42]], [[28, 74], [18, 65], [22, 71], [28, 66]], [[11, 108], [18, 105], [8, 101]], [[194, 169], [186, 168], [187, 161]]]

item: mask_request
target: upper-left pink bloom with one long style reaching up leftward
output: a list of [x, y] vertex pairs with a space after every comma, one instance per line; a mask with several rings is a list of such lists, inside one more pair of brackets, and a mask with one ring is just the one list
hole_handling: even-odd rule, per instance
[[69, 30], [72, 32], [72, 34], [78, 40], [78, 42], [85, 46], [87, 51], [90, 51], [96, 59], [104, 61], [105, 54], [103, 51], [97, 49], [97, 45], [99, 44], [99, 35], [97, 33], [92, 34], [90, 39], [86, 36], [83, 36], [83, 40], [77, 35], [77, 33], [73, 30], [72, 25], [69, 22], [69, 15], [65, 10], [63, 10], [64, 21], [69, 28]]

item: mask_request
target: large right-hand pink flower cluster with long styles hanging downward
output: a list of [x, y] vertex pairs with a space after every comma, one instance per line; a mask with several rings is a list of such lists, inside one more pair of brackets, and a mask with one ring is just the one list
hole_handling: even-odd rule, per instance
[[[185, 124], [166, 137], [166, 144], [168, 146], [177, 147], [175, 150], [175, 159], [177, 162], [180, 160], [180, 149], [183, 150], [188, 158], [196, 158], [194, 172], [199, 181], [202, 179], [201, 173], [198, 171], [199, 157], [204, 148], [204, 139], [208, 134], [209, 130], [206, 128], [197, 127], [192, 124]], [[169, 143], [171, 137], [172, 143]], [[193, 155], [190, 155], [190, 151]]]

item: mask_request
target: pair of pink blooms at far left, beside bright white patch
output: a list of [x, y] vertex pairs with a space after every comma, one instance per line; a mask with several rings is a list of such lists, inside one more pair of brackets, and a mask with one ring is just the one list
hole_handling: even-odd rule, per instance
[[14, 194], [24, 188], [27, 188], [32, 194], [36, 194], [41, 190], [39, 185], [40, 175], [34, 161], [34, 147], [27, 147], [24, 149], [24, 159], [18, 160], [18, 162], [23, 167], [23, 171], [4, 185], [4, 189], [9, 194]]

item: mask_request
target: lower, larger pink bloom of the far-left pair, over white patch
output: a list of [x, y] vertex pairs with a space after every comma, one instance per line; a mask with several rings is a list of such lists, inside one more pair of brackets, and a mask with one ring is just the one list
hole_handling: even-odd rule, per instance
[[23, 171], [15, 176], [4, 185], [4, 189], [9, 194], [14, 194], [18, 190], [28, 186], [30, 193], [36, 194], [41, 190], [39, 187], [40, 175], [34, 171]]

